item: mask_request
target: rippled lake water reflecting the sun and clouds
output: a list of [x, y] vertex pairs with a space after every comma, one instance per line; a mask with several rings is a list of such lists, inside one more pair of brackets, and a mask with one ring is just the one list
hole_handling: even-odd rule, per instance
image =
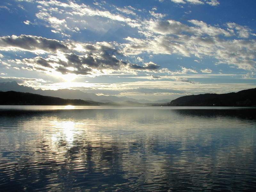
[[0, 190], [255, 191], [255, 112], [0, 106]]

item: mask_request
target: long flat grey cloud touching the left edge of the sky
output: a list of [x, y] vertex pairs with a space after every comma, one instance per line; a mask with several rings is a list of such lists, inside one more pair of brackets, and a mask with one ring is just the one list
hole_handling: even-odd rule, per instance
[[30, 35], [0, 37], [0, 46], [17, 47], [28, 51], [44, 50], [52, 53], [56, 53], [57, 50], [62, 52], [68, 50], [68, 47], [60, 43], [60, 41]]

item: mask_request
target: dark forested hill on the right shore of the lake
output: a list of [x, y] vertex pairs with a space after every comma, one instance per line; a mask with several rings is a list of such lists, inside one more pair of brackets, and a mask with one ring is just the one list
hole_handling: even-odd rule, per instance
[[225, 94], [188, 95], [172, 100], [168, 106], [256, 106], [256, 88]]

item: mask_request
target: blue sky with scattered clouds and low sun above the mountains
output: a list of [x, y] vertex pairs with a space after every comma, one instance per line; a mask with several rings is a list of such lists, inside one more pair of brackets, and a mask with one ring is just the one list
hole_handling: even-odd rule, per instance
[[255, 0], [1, 0], [0, 82], [134, 99], [256, 87]]

